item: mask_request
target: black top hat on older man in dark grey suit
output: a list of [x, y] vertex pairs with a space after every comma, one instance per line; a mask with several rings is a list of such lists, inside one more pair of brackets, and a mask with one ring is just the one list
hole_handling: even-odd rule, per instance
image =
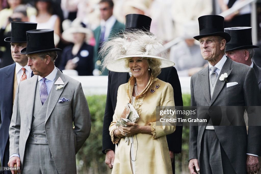
[[194, 39], [199, 40], [206, 36], [221, 36], [230, 41], [230, 35], [224, 32], [224, 17], [219, 15], [205, 15], [198, 18], [199, 35]]

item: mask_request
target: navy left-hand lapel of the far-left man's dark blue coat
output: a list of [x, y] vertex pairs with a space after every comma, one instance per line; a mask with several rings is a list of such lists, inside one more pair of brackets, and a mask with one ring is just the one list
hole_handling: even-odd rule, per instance
[[13, 92], [14, 92], [14, 73], [15, 73], [15, 63], [8, 66], [5, 73], [3, 73], [2, 79], [2, 89], [3, 89], [3, 98], [7, 102], [7, 107], [10, 109], [6, 109], [8, 115], [12, 116], [12, 108], [13, 108]]

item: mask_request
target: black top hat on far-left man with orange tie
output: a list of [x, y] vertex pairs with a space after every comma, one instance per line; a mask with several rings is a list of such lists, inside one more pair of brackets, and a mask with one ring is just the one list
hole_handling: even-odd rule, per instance
[[26, 31], [36, 29], [37, 23], [11, 22], [11, 37], [5, 38], [6, 42], [26, 42]]

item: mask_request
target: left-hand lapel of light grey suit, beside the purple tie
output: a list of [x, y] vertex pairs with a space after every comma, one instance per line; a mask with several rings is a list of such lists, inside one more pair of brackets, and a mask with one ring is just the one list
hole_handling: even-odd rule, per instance
[[31, 127], [32, 125], [32, 118], [33, 118], [33, 107], [34, 107], [34, 99], [35, 99], [35, 94], [37, 93], [40, 95], [39, 89], [36, 89], [37, 83], [38, 83], [38, 75], [32, 77], [31, 79], [27, 80], [27, 98], [26, 100], [26, 109], [27, 109], [27, 117], [29, 120], [29, 126]]

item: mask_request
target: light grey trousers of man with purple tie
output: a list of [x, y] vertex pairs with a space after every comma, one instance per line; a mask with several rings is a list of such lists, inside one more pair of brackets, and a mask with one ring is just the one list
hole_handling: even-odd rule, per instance
[[49, 145], [27, 144], [22, 173], [57, 174]]

